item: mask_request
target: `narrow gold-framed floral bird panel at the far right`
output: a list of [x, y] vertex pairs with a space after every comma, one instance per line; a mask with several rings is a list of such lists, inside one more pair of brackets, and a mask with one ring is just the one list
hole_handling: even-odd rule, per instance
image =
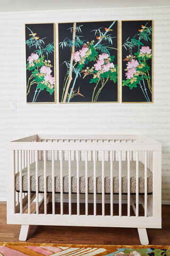
[[122, 102], [152, 95], [152, 20], [122, 21]]

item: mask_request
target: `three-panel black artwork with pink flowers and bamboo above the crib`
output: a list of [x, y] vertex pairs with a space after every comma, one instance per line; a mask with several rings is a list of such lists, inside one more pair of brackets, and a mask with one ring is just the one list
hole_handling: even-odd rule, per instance
[[[27, 103], [118, 102], [118, 21], [25, 24]], [[122, 21], [122, 102], [152, 102], [152, 21]]]

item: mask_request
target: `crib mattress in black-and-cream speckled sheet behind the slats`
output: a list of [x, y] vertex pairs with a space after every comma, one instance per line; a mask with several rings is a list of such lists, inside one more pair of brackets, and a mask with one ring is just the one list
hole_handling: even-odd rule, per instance
[[[119, 193], [118, 161], [113, 162], [113, 193]], [[60, 161], [54, 161], [55, 193], [60, 193]], [[52, 161], [47, 160], [47, 193], [52, 192]], [[101, 161], [96, 162], [96, 193], [102, 193]], [[145, 193], [145, 166], [139, 162], [139, 194]], [[79, 161], [80, 193], [86, 191], [85, 163]], [[105, 193], [111, 193], [111, 163], [105, 161]], [[36, 163], [30, 165], [31, 192], [36, 191]], [[15, 189], [20, 191], [20, 174], [15, 174]], [[71, 161], [71, 189], [77, 193], [77, 162]], [[22, 191], [28, 191], [28, 169], [22, 170]], [[44, 192], [44, 161], [38, 161], [38, 191]], [[130, 161], [130, 193], [136, 192], [136, 162]], [[63, 161], [63, 193], [69, 193], [69, 164]], [[88, 193], [94, 193], [94, 162], [88, 161]], [[122, 194], [128, 193], [128, 162], [122, 161]], [[147, 170], [147, 193], [152, 193], [152, 172]]]

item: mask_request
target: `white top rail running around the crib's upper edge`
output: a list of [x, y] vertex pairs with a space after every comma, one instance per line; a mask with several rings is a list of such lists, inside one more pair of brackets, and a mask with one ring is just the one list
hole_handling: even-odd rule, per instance
[[151, 150], [160, 142], [140, 134], [35, 134], [7, 142], [8, 150]]

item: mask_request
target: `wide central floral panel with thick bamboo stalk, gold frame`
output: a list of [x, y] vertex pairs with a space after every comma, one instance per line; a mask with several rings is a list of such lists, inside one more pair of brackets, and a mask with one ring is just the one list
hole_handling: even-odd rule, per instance
[[117, 102], [117, 21], [58, 24], [59, 102]]

